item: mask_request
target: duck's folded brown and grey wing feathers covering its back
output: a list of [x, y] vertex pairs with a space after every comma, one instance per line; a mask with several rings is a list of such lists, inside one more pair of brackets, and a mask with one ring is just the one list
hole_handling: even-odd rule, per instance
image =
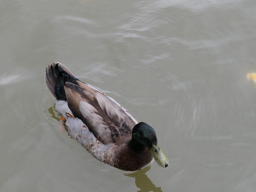
[[66, 82], [65, 93], [69, 109], [83, 121], [103, 144], [121, 144], [131, 140], [138, 122], [118, 102], [93, 87], [77, 81]]

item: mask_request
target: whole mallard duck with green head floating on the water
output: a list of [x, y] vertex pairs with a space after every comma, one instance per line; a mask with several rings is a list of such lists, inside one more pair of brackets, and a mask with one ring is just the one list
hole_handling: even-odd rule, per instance
[[118, 102], [83, 83], [64, 65], [53, 62], [45, 82], [56, 98], [56, 110], [72, 138], [99, 161], [125, 171], [135, 171], [156, 160], [167, 167], [155, 130], [137, 122]]

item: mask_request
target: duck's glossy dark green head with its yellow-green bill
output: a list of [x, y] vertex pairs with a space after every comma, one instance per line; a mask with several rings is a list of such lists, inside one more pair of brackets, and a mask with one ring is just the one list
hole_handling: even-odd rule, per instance
[[[161, 167], [167, 167], [169, 160], [158, 146], [155, 130], [146, 123], [140, 122], [133, 127], [132, 141], [138, 150], [142, 147], [149, 148], [154, 159]], [[141, 146], [141, 147], [140, 147]]]

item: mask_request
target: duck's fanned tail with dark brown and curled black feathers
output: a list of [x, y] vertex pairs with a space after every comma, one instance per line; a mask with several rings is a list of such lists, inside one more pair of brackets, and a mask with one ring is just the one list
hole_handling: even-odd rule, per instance
[[53, 62], [45, 69], [45, 83], [58, 100], [67, 100], [64, 86], [66, 82], [77, 84], [76, 80], [74, 74], [61, 63]]

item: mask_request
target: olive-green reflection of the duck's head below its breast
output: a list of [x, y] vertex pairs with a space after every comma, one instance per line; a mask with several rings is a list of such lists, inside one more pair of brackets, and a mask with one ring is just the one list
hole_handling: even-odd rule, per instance
[[150, 166], [147, 166], [143, 169], [137, 170], [136, 172], [124, 175], [135, 178], [135, 185], [140, 189], [138, 192], [162, 192], [161, 187], [156, 187], [145, 174], [148, 170], [150, 170], [150, 168]]

